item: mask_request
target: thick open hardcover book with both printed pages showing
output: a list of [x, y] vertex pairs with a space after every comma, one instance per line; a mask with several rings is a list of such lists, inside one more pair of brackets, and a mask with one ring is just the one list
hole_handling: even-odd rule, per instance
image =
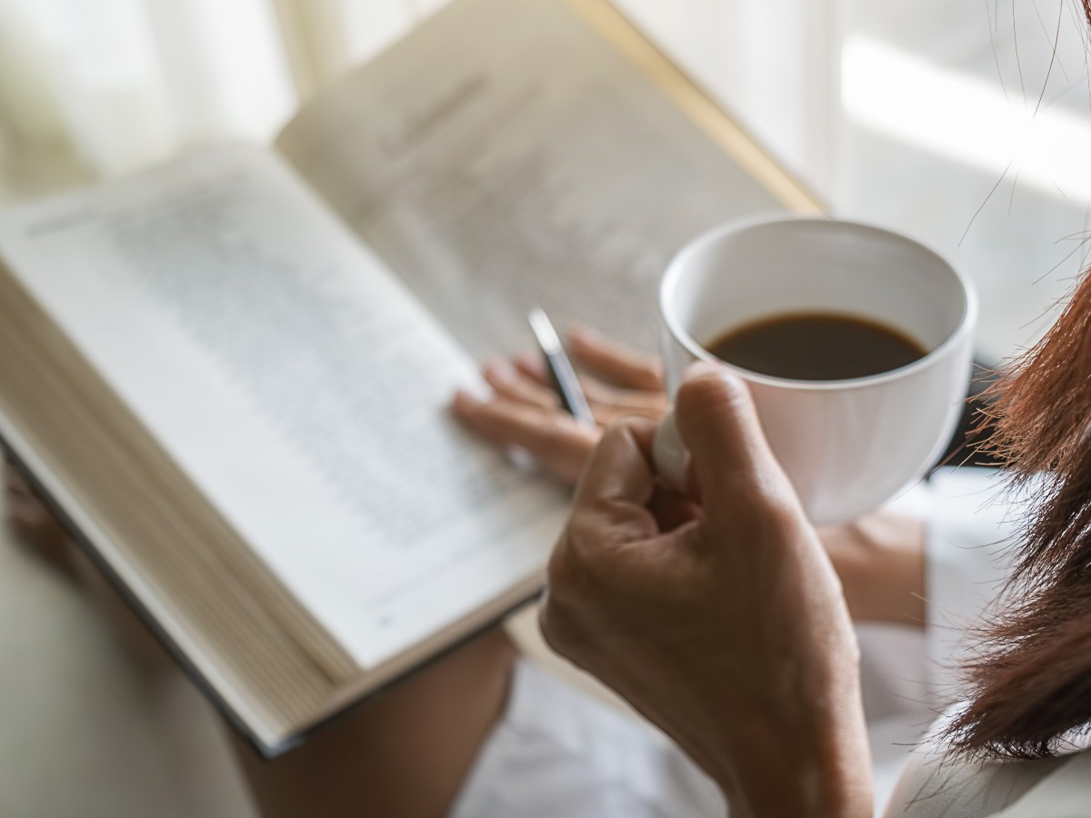
[[272, 755], [539, 590], [566, 496], [447, 417], [476, 360], [536, 305], [650, 349], [669, 255], [784, 206], [601, 0], [456, 0], [273, 151], [0, 216], [0, 435]]

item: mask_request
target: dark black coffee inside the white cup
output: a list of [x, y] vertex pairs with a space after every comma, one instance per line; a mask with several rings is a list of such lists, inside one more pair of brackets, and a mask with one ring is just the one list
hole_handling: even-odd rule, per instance
[[889, 372], [925, 354], [884, 324], [835, 313], [788, 313], [729, 329], [705, 348], [751, 372], [795, 381], [843, 381]]

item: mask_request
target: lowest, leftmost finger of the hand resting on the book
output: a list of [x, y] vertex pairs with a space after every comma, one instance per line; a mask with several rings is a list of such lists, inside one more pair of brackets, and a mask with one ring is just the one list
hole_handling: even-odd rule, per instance
[[506, 398], [481, 401], [459, 392], [451, 409], [471, 432], [497, 446], [525, 448], [547, 470], [572, 483], [599, 438], [597, 429], [568, 416]]

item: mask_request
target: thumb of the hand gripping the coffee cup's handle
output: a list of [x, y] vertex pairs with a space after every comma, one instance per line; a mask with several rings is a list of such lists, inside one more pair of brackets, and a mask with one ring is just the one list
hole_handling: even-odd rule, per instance
[[706, 512], [717, 498], [788, 488], [758, 421], [746, 384], [722, 366], [698, 362], [675, 401], [679, 435], [693, 457]]

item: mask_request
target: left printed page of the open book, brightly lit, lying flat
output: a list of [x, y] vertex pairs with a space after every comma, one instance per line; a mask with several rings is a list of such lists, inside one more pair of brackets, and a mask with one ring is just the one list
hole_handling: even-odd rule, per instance
[[275, 154], [23, 207], [0, 252], [362, 666], [540, 574], [564, 496], [447, 417], [475, 363]]

